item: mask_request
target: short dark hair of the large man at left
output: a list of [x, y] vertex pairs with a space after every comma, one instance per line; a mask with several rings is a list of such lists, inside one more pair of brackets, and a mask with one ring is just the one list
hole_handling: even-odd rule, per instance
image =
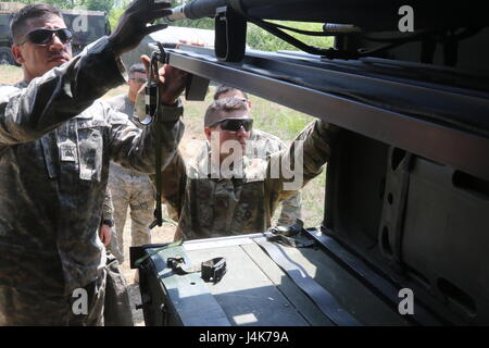
[[26, 23], [30, 18], [41, 18], [45, 16], [57, 15], [63, 18], [60, 10], [50, 3], [33, 3], [28, 4], [14, 13], [10, 21], [10, 34], [12, 41], [18, 44], [27, 29]]

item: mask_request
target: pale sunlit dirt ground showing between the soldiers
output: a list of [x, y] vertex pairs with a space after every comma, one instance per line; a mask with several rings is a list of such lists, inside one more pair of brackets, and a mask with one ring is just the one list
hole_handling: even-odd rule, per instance
[[[185, 120], [184, 120], [185, 122]], [[186, 130], [184, 134], [184, 138], [180, 141], [179, 150], [184, 159], [190, 158], [195, 154], [200, 148], [200, 141], [204, 140], [203, 132], [200, 129], [199, 125], [195, 124], [186, 124]], [[163, 204], [163, 216], [165, 215], [165, 206]], [[151, 243], [168, 243], [173, 240], [173, 236], [175, 233], [175, 227], [171, 224], [163, 224], [161, 227], [155, 227], [151, 231]], [[126, 225], [124, 226], [124, 245], [130, 246], [130, 215], [129, 210], [127, 211]], [[129, 297], [130, 297], [130, 307], [133, 310], [133, 318], [135, 325], [143, 326], [145, 320], [142, 316], [142, 310], [136, 310], [136, 304], [141, 303], [141, 294], [139, 291], [139, 285], [135, 283], [135, 272], [136, 270], [131, 270], [129, 268], [129, 248], [125, 248], [124, 250], [125, 261], [122, 264], [122, 272], [126, 277]]]

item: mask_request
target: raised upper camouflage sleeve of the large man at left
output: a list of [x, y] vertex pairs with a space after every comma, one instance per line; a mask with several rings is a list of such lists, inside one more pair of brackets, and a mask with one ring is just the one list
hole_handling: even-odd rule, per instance
[[26, 88], [0, 87], [0, 146], [39, 139], [123, 84], [111, 46], [103, 37]]

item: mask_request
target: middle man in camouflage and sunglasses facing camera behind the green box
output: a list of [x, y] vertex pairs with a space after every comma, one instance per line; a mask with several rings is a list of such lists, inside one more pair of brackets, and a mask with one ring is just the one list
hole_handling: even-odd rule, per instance
[[[241, 151], [236, 148], [233, 156], [244, 152], [252, 122], [249, 116], [243, 100], [214, 101], [204, 120], [211, 150], [187, 162], [177, 152], [162, 171], [162, 196], [178, 219], [175, 239], [181, 235], [198, 239], [264, 232], [278, 203], [323, 171], [337, 128], [316, 120], [290, 147], [266, 159], [240, 157], [233, 167], [229, 165], [229, 173], [223, 173], [221, 169], [230, 157], [223, 145], [234, 140]], [[302, 170], [303, 181], [293, 185], [298, 175], [290, 174], [296, 173], [283, 171], [280, 165], [277, 172], [275, 164], [281, 162], [294, 163]]]

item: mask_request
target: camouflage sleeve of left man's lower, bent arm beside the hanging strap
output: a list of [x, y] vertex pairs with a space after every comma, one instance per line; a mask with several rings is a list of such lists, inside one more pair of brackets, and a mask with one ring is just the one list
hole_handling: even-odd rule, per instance
[[[138, 96], [138, 100], [143, 98]], [[135, 113], [138, 105], [136, 102]], [[139, 109], [140, 110], [140, 109]], [[184, 135], [184, 123], [180, 116], [184, 112], [181, 100], [176, 107], [161, 105], [158, 120], [139, 129], [127, 115], [110, 109], [111, 116], [111, 157], [125, 167], [134, 169], [145, 174], [154, 174], [154, 158], [156, 151], [155, 130], [161, 128], [162, 167], [165, 167], [177, 151], [178, 142]]]

